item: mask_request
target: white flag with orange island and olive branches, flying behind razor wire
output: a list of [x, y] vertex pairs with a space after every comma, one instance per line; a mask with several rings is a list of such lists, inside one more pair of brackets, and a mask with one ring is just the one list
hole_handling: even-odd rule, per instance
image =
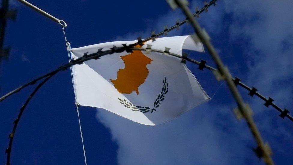
[[[109, 50], [135, 41], [114, 41], [71, 49], [73, 59], [98, 49]], [[152, 49], [182, 55], [182, 49], [203, 52], [190, 36], [156, 38]], [[113, 53], [73, 66], [78, 104], [104, 108], [140, 124], [158, 125], [180, 116], [210, 97], [181, 59], [162, 53], [134, 50]]]

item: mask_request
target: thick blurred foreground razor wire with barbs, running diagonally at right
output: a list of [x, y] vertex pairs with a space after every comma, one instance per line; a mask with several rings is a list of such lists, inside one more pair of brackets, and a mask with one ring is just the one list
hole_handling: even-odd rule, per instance
[[[234, 113], [237, 115], [237, 118], [244, 118], [250, 132], [252, 133], [255, 142], [257, 144], [257, 148], [255, 149], [255, 152], [260, 157], [263, 157], [264, 163], [266, 164], [273, 164], [273, 160], [271, 158], [271, 150], [267, 143], [264, 143], [261, 133], [258, 131], [258, 128], [252, 118], [252, 110], [249, 107], [248, 103], [244, 103], [242, 96], [240, 95], [239, 91], [237, 90], [237, 87], [235, 85], [235, 81], [232, 81], [231, 74], [228, 70], [228, 67], [225, 66], [218, 56], [218, 53], [216, 52], [215, 48], [213, 47], [213, 44], [210, 42], [210, 36], [207, 34], [207, 32], [203, 29], [201, 29], [201, 26], [199, 23], [193, 18], [193, 15], [191, 11], [188, 8], [188, 1], [187, 0], [170, 0], [169, 4], [171, 8], [181, 8], [183, 13], [186, 15], [186, 17], [189, 18], [190, 24], [192, 25], [196, 35], [197, 40], [200, 39], [200, 41], [203, 43], [203, 45], [207, 48], [207, 51], [209, 52], [210, 56], [212, 57], [213, 61], [215, 62], [218, 72], [216, 72], [215, 76], [218, 80], [223, 79], [225, 80], [228, 89], [230, 90], [231, 94], [233, 95], [233, 98], [235, 102], [237, 103], [237, 108], [234, 108]], [[207, 3], [204, 3], [205, 6]], [[194, 41], [196, 41], [195, 38], [193, 38]], [[255, 90], [253, 90], [255, 92]], [[270, 105], [272, 103], [272, 99], [268, 99], [265, 103], [266, 106]]]

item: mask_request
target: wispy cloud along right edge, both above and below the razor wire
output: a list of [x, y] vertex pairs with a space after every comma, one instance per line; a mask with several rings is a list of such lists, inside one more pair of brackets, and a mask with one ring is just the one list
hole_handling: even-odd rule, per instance
[[[246, 82], [256, 85], [265, 96], [273, 97], [282, 108], [291, 107], [293, 99], [293, 86], [290, 84], [293, 78], [293, 46], [288, 44], [293, 41], [290, 37], [293, 35], [290, 30], [293, 29], [292, 7], [293, 4], [289, 1], [273, 0], [226, 3], [226, 12], [233, 18], [229, 30], [231, 41], [243, 37], [250, 45], [246, 55], [252, 61], [247, 63], [249, 71]], [[264, 111], [258, 102], [253, 100], [251, 105], [261, 131], [270, 141], [273, 150], [286, 154], [285, 151], [292, 147], [291, 123], [280, 121], [275, 113]], [[282, 139], [281, 143], [275, 143], [276, 138]]]

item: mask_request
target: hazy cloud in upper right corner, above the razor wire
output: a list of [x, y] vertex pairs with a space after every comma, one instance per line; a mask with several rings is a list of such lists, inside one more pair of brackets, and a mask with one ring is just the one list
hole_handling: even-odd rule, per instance
[[274, 82], [293, 76], [290, 69], [293, 66], [293, 56], [290, 55], [293, 47], [284, 44], [293, 41], [293, 3], [290, 2], [248, 0], [226, 4], [226, 11], [232, 13], [234, 21], [230, 26], [231, 39], [248, 38], [251, 47], [247, 52], [254, 52], [249, 79], [269, 93], [274, 90], [267, 89], [267, 86], [273, 87]]

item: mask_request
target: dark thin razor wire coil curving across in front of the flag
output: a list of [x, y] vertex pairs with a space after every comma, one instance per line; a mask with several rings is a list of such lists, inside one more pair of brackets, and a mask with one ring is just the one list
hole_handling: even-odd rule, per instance
[[[193, 17], [198, 17], [199, 14], [201, 14], [203, 11], [207, 11], [207, 8], [209, 8], [211, 5], [215, 5], [215, 2], [216, 2], [216, 0], [212, 0], [212, 1], [210, 1], [209, 3], [205, 3], [204, 7], [201, 8], [201, 10], [197, 10], [197, 11], [195, 12], [195, 14], [193, 14]], [[154, 34], [154, 32], [152, 32], [151, 37], [146, 38], [146, 39], [144, 39], [144, 40], [141, 40], [141, 38], [139, 37], [139, 38], [137, 38], [138, 41], [137, 41], [136, 43], [134, 43], [134, 44], [130, 44], [130, 45], [128, 45], [128, 46], [127, 46], [126, 44], [122, 44], [122, 47], [116, 47], [116, 46], [113, 46], [112, 48], [110, 48], [110, 50], [104, 50], [104, 51], [102, 51], [102, 49], [99, 49], [96, 53], [92, 53], [92, 54], [89, 54], [89, 55], [88, 55], [88, 54], [84, 54], [83, 57], [80, 57], [80, 58], [78, 58], [78, 59], [76, 59], [76, 60], [71, 60], [69, 63], [67, 63], [67, 64], [65, 64], [65, 65], [63, 65], [63, 66], [60, 66], [58, 69], [56, 69], [56, 70], [54, 70], [54, 71], [52, 71], [52, 72], [49, 72], [49, 73], [47, 73], [46, 75], [43, 75], [43, 76], [41, 76], [41, 77], [39, 77], [39, 78], [36, 78], [35, 80], [30, 81], [29, 83], [24, 84], [23, 86], [20, 86], [20, 87], [18, 87], [17, 89], [15, 89], [15, 90], [13, 90], [13, 91], [7, 93], [6, 95], [4, 95], [4, 96], [2, 96], [2, 97], [0, 98], [0, 102], [3, 101], [6, 97], [10, 96], [11, 94], [13, 94], [13, 93], [17, 93], [17, 92], [20, 91], [21, 89], [23, 89], [23, 88], [25, 88], [25, 87], [27, 87], [27, 86], [29, 86], [29, 85], [35, 84], [37, 81], [39, 81], [39, 80], [45, 78], [44, 81], [42, 81], [42, 82], [41, 82], [41, 83], [35, 88], [34, 92], [30, 95], [30, 97], [29, 97], [29, 99], [27, 100], [27, 102], [25, 103], [25, 105], [22, 106], [23, 110], [20, 112], [20, 115], [19, 115], [19, 117], [20, 117], [21, 114], [22, 114], [23, 111], [24, 111], [24, 108], [26, 107], [26, 105], [27, 105], [28, 102], [30, 101], [31, 97], [36, 93], [36, 91], [37, 91], [37, 90], [38, 90], [38, 89], [39, 89], [39, 88], [40, 88], [40, 87], [41, 87], [41, 86], [42, 86], [42, 85], [43, 85], [43, 84], [44, 84], [49, 78], [51, 78], [51, 77], [52, 77], [53, 75], [55, 75], [56, 73], [58, 73], [58, 72], [60, 72], [60, 71], [62, 71], [62, 70], [66, 70], [66, 69], [68, 69], [68, 67], [74, 66], [74, 65], [76, 65], [76, 64], [82, 64], [83, 62], [88, 61], [88, 60], [91, 60], [91, 59], [95, 59], [95, 60], [97, 60], [97, 59], [99, 59], [100, 57], [102, 57], [102, 56], [104, 56], [104, 55], [107, 55], [107, 54], [113, 54], [113, 53], [121, 53], [121, 52], [124, 52], [124, 51], [126, 51], [126, 52], [128, 52], [128, 53], [129, 53], [129, 52], [132, 52], [132, 50], [138, 50], [138, 49], [140, 49], [140, 50], [144, 50], [144, 51], [155, 51], [155, 52], [164, 53], [164, 54], [172, 55], [172, 56], [175, 56], [175, 57], [179, 57], [179, 58], [182, 59], [181, 62], [183, 62], [183, 63], [184, 63], [185, 60], [186, 60], [186, 61], [189, 61], [189, 62], [192, 62], [192, 63], [198, 64], [198, 65], [199, 65], [198, 69], [200, 69], [200, 70], [203, 70], [204, 68], [206, 68], [206, 69], [209, 69], [209, 70], [212, 70], [212, 71], [217, 71], [215, 68], [206, 65], [206, 64], [205, 64], [206, 61], [204, 61], [204, 60], [201, 60], [201, 62], [198, 62], [198, 61], [196, 61], [196, 60], [193, 60], [193, 59], [187, 58], [186, 56], [184, 56], [184, 54], [183, 54], [183, 56], [180, 56], [180, 55], [177, 55], [177, 54], [174, 54], [174, 53], [170, 53], [170, 52], [169, 52], [170, 49], [168, 49], [168, 50], [166, 49], [165, 51], [162, 51], [162, 50], [154, 50], [154, 49], [151, 49], [150, 47], [149, 47], [149, 48], [134, 48], [134, 46], [136, 46], [136, 45], [143, 45], [143, 43], [146, 42], [146, 41], [149, 41], [149, 40], [153, 40], [153, 41], [155, 41], [155, 38], [156, 38], [156, 37], [161, 36], [161, 35], [163, 35], [163, 34], [167, 35], [168, 32], [171, 31], [171, 30], [173, 30], [173, 29], [177, 29], [177, 30], [178, 30], [178, 29], [179, 29], [179, 26], [183, 25], [183, 24], [186, 23], [187, 21], [188, 21], [188, 19], [185, 19], [185, 20], [183, 20], [183, 21], [181, 21], [181, 22], [177, 21], [177, 23], [176, 23], [174, 26], [170, 27], [170, 28], [166, 28], [166, 26], [165, 26], [164, 31], [159, 32], [159, 33], [157, 33], [157, 34]], [[243, 87], [244, 89], [248, 90], [248, 91], [249, 91], [248, 94], [249, 94], [250, 96], [255, 95], [255, 96], [258, 96], [259, 98], [261, 98], [262, 100], [264, 100], [264, 101], [265, 101], [265, 103], [264, 103], [265, 106], [268, 107], [269, 105], [271, 105], [273, 108], [275, 108], [275, 109], [277, 109], [279, 112], [281, 112], [281, 114], [279, 115], [281, 118], [284, 119], [285, 117], [287, 117], [287, 118], [289, 118], [291, 121], [293, 121], [293, 118], [292, 118], [290, 115], [288, 115], [289, 111], [288, 111], [287, 109], [282, 110], [282, 109], [279, 108], [277, 105], [275, 105], [274, 103], [272, 103], [272, 102], [273, 102], [273, 99], [271, 99], [270, 97], [269, 97], [269, 99], [266, 99], [264, 96], [262, 96], [261, 94], [259, 94], [258, 92], [256, 92], [257, 89], [255, 89], [254, 87], [249, 88], [248, 86], [246, 86], [245, 84], [243, 84], [242, 82], [240, 82], [240, 79], [237, 78], [237, 77], [234, 78], [233, 81], [234, 81], [235, 85], [239, 85], [240, 87]], [[19, 120], [19, 118], [17, 118], [17, 123], [18, 123], [18, 120]], [[14, 130], [13, 130], [13, 132], [12, 132], [12, 138], [10, 138], [9, 147], [6, 149], [6, 152], [9, 151], [9, 157], [10, 157], [11, 145], [12, 145], [12, 140], [13, 140], [13, 136], [14, 136], [14, 132], [15, 132], [16, 127], [17, 127], [17, 124], [14, 125]], [[11, 135], [11, 134], [10, 134], [10, 135]], [[8, 163], [7, 163], [7, 164], [9, 164], [9, 159], [8, 159]]]

